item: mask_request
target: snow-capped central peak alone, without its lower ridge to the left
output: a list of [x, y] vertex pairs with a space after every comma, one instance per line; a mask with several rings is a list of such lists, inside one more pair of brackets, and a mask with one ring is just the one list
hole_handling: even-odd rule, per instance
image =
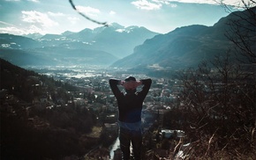
[[112, 23], [108, 27], [102, 26], [94, 30], [84, 29], [79, 33], [70, 34], [66, 38], [82, 41], [89, 44], [92, 49], [100, 49], [118, 58], [124, 58], [132, 54], [134, 47], [157, 34], [159, 33], [151, 32], [145, 27], [124, 27]]

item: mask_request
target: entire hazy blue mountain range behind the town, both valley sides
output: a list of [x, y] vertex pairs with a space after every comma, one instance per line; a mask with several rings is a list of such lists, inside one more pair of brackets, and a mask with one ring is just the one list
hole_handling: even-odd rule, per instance
[[[252, 8], [253, 11], [255, 9]], [[225, 36], [230, 30], [227, 24], [247, 13], [236, 11], [213, 26], [182, 26], [166, 34], [116, 23], [94, 30], [86, 28], [79, 33], [46, 34], [40, 38], [39, 35], [26, 35], [28, 38], [0, 34], [0, 58], [19, 66], [88, 64], [117, 68], [192, 67], [201, 61], [212, 60], [216, 55], [224, 55], [229, 50], [233, 53], [234, 44]]]

